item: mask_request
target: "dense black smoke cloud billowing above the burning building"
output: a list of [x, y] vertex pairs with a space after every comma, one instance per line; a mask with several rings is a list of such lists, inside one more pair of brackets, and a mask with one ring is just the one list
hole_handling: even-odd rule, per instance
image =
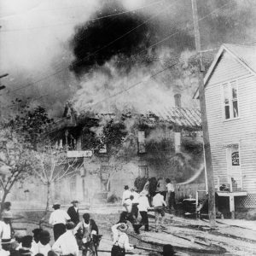
[[[114, 5], [104, 7], [96, 14], [96, 18], [125, 11], [116, 3]], [[102, 66], [114, 55], [130, 57], [146, 49], [155, 36], [154, 28], [150, 23], [143, 24], [147, 19], [145, 15], [126, 13], [89, 21], [78, 26], [71, 42], [75, 56], [71, 69], [80, 75], [94, 65]], [[131, 30], [133, 31], [130, 32]], [[127, 33], [125, 37], [120, 38], [125, 33]]]

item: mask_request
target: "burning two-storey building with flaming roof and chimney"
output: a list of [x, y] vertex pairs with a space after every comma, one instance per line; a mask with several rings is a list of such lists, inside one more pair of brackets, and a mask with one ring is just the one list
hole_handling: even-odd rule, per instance
[[55, 147], [84, 161], [69, 181], [70, 195], [81, 201], [119, 197], [125, 184], [134, 187], [137, 177], [183, 182], [198, 172], [203, 162], [201, 114], [182, 108], [180, 95], [175, 101], [175, 107], [120, 115], [75, 116], [67, 104], [62, 124], [55, 125], [51, 136]]

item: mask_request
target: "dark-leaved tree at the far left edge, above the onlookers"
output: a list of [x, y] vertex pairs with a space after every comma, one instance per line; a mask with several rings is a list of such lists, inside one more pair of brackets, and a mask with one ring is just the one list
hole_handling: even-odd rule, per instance
[[[21, 102], [22, 103], [22, 102]], [[0, 185], [3, 189], [1, 211], [14, 184], [22, 181], [38, 169], [33, 157], [37, 144], [44, 140], [45, 131], [52, 119], [44, 108], [20, 107], [13, 119], [1, 124], [0, 131]]]

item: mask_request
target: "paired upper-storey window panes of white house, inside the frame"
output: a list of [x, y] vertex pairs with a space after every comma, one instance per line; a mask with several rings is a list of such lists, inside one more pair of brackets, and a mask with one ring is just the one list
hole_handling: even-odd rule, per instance
[[238, 117], [236, 81], [224, 84], [223, 91], [224, 91], [224, 119], [236, 119]]

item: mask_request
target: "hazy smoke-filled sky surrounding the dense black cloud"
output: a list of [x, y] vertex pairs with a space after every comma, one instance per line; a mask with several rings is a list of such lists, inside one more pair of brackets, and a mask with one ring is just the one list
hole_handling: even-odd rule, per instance
[[[202, 49], [215, 49], [224, 43], [244, 44], [256, 41], [256, 3], [253, 2], [197, 0]], [[125, 90], [142, 80], [143, 86], [138, 90], [133, 89], [118, 98], [113, 97], [111, 102], [98, 106], [96, 111], [101, 111], [102, 108], [112, 111], [111, 106], [115, 102], [118, 102], [117, 106], [122, 109], [130, 105], [138, 110], [145, 110], [152, 101], [155, 106], [160, 105], [160, 102], [173, 102], [166, 94], [171, 97], [183, 90], [188, 91], [184, 93], [184, 98], [189, 98], [196, 87], [193, 81], [172, 78], [172, 83], [169, 81], [171, 86], [166, 82], [170, 74], [161, 74], [158, 80], [150, 79], [155, 72], [163, 68], [165, 63], [162, 61], [131, 65], [130, 55], [124, 56], [114, 52], [100, 65], [97, 62], [88, 68], [82, 67], [82, 73], [74, 72], [70, 68], [73, 61], [78, 60], [78, 55], [74, 54], [74, 38], [78, 35], [84, 37], [85, 32], [86, 42], [88, 27], [99, 24], [104, 25], [100, 32], [104, 35], [108, 27], [106, 22], [104, 24], [103, 20], [97, 22], [92, 19], [104, 14], [116, 15], [120, 11], [125, 14], [114, 16], [110, 22], [114, 24], [117, 20], [122, 20], [122, 17], [129, 18], [131, 15], [132, 19], [136, 16], [139, 22], [145, 23], [145, 38], [132, 46], [130, 55], [137, 52], [137, 49], [143, 49], [142, 47], [148, 44], [158, 44], [168, 37], [162, 44], [158, 44], [154, 56], [169, 60], [170, 54], [173, 56], [177, 53], [193, 52], [194, 31], [191, 26], [192, 12], [189, 0], [2, 0], [0, 74], [9, 73], [7, 78], [1, 79], [1, 83], [7, 87], [0, 91], [0, 102], [5, 111], [11, 111], [10, 107], [19, 108], [12, 106], [12, 100], [21, 98], [31, 106], [43, 105], [53, 117], [60, 116], [65, 102], [69, 100], [73, 101], [79, 110], [90, 108], [90, 103], [94, 104], [104, 96], [111, 96], [120, 89]], [[114, 26], [110, 24], [111, 31], [114, 31]], [[81, 29], [84, 31], [79, 34]], [[134, 29], [133, 35], [136, 35], [136, 32], [137, 29]], [[118, 37], [120, 33], [122, 34], [122, 31]], [[125, 37], [119, 41], [125, 42]], [[79, 49], [83, 49], [84, 41], [81, 42], [82, 47], [79, 46]], [[105, 42], [106, 44], [108, 42]], [[107, 46], [105, 50], [108, 48], [110, 47]], [[83, 50], [86, 54], [86, 49]], [[99, 58], [105, 58], [106, 55], [101, 55], [102, 52], [99, 51]], [[121, 53], [124, 52], [125, 50]], [[147, 54], [150, 54], [149, 50]], [[123, 66], [116, 65], [116, 61], [124, 61], [124, 58], [126, 63], [130, 63], [125, 67], [125, 73]], [[193, 88], [189, 84], [192, 84]], [[193, 102], [189, 104], [188, 107], [194, 107]]]

